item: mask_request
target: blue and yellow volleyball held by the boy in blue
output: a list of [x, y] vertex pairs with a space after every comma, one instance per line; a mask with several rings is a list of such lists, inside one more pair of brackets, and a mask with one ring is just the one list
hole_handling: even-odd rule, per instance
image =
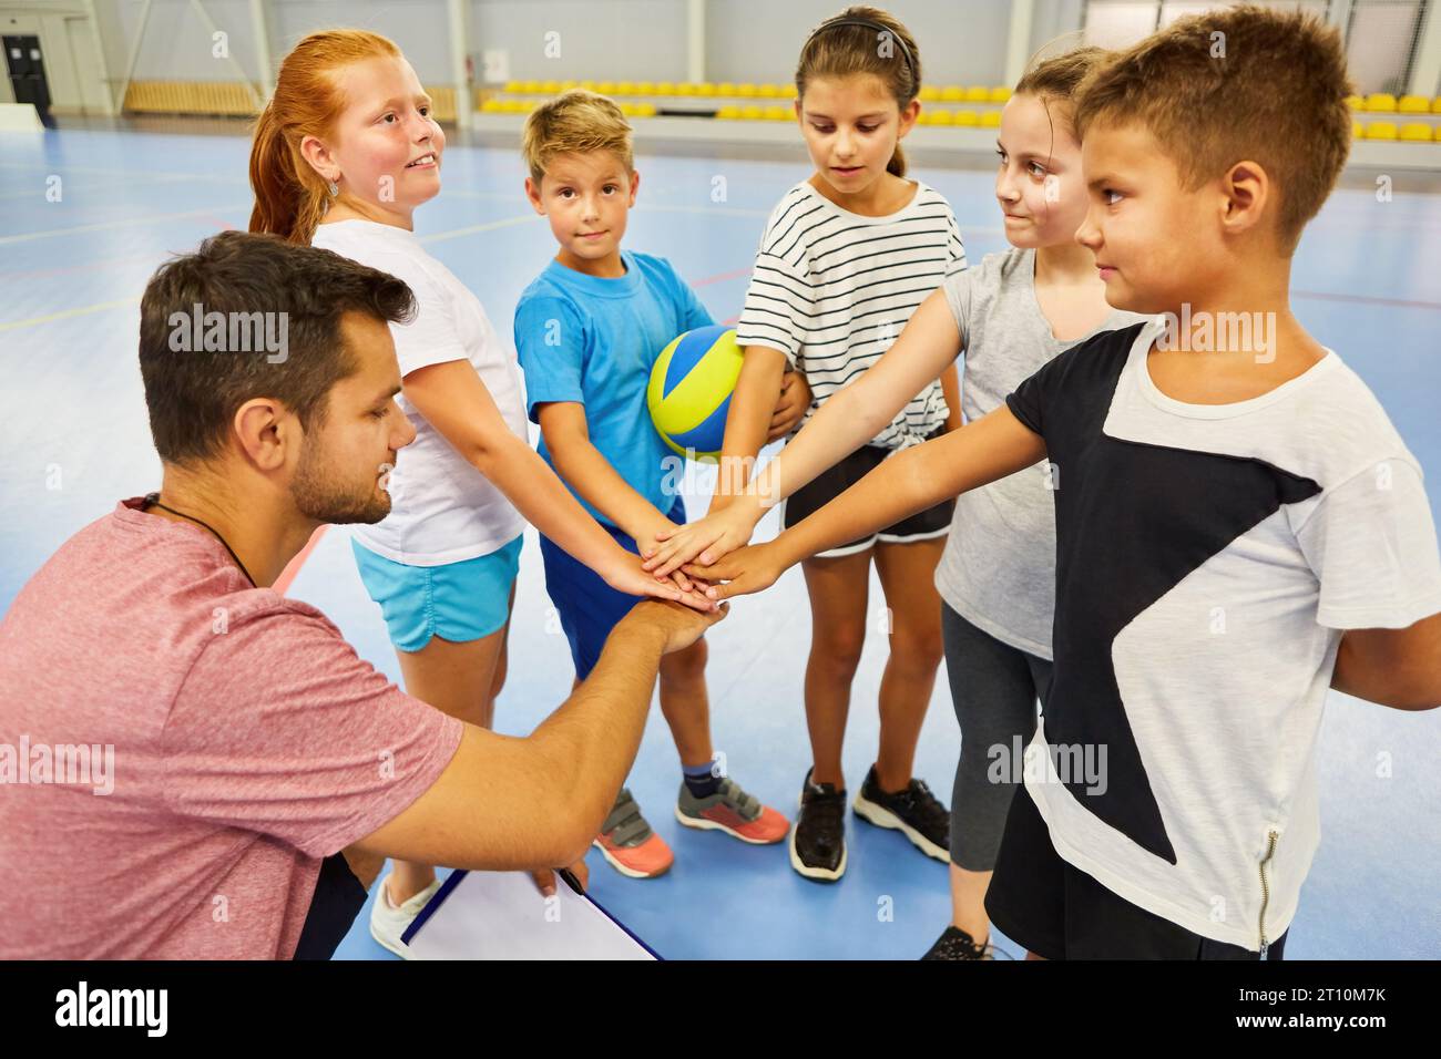
[[672, 450], [692, 460], [719, 461], [741, 360], [735, 329], [723, 324], [686, 331], [660, 352], [646, 405]]

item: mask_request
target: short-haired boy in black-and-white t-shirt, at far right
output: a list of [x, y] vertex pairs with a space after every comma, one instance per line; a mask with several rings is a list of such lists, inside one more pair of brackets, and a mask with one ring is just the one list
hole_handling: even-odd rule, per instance
[[986, 899], [1036, 955], [1280, 957], [1319, 841], [1327, 687], [1441, 703], [1421, 468], [1287, 297], [1349, 150], [1347, 91], [1339, 36], [1295, 12], [1208, 12], [1120, 53], [1076, 101], [1076, 239], [1107, 301], [1161, 318], [695, 568], [731, 582], [719, 598], [752, 592], [1049, 460], [1053, 683]]

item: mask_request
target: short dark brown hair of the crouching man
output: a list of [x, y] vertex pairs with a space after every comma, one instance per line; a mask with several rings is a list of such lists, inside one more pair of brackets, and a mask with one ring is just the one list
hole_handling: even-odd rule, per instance
[[[307, 431], [323, 426], [330, 388], [359, 369], [340, 333], [347, 311], [406, 323], [415, 298], [393, 275], [271, 235], [220, 232], [161, 265], [140, 303], [140, 373], [160, 458], [193, 465], [219, 455], [235, 411], [254, 398], [282, 402]], [[265, 327], [284, 336], [281, 353], [252, 340]]]

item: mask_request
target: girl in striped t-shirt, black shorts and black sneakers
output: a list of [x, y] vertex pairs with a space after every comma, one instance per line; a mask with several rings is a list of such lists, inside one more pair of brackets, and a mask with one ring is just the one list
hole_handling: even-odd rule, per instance
[[[847, 7], [801, 48], [795, 88], [816, 173], [781, 199], [757, 252], [736, 327], [745, 365], [726, 419], [712, 511], [744, 488], [787, 367], [806, 372], [814, 411], [879, 360], [915, 307], [965, 268], [950, 205], [919, 180], [905, 179], [898, 141], [921, 110], [921, 58], [905, 26], [873, 7]], [[878, 416], [866, 432], [869, 444], [791, 494], [782, 523], [800, 522], [891, 452], [958, 425], [953, 365], [893, 418]], [[880, 682], [880, 746], [855, 810], [873, 824], [899, 828], [927, 854], [950, 859], [947, 808], [911, 767], [941, 661], [941, 601], [932, 578], [953, 507], [947, 501], [804, 563], [811, 602], [806, 718], [814, 764], [791, 830], [791, 866], [810, 879], [836, 880], [846, 870], [842, 741], [870, 624], [872, 560], [886, 598], [880, 627], [891, 635], [891, 657]]]

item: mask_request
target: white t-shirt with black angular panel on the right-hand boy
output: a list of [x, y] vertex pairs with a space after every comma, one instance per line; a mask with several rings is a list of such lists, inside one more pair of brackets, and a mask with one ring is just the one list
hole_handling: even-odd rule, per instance
[[1025, 781], [1068, 863], [1255, 951], [1320, 840], [1342, 630], [1441, 611], [1441, 558], [1419, 464], [1334, 352], [1190, 405], [1150, 377], [1161, 327], [1095, 336], [1007, 398], [1056, 501], [1055, 674]]

